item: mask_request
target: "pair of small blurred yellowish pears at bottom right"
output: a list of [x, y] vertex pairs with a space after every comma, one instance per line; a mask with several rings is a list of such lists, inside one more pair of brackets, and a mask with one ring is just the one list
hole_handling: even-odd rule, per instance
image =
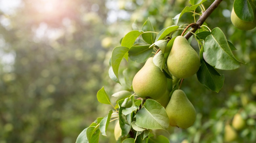
[[237, 131], [242, 130], [246, 125], [245, 119], [240, 113], [236, 113], [231, 125], [226, 124], [224, 128], [224, 142], [232, 142], [237, 139]]

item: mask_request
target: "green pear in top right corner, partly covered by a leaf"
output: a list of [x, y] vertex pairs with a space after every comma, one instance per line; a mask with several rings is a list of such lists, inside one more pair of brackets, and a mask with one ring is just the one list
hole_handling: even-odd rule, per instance
[[251, 29], [256, 27], [256, 14], [255, 14], [255, 12], [254, 12], [254, 20], [253, 20], [253, 22], [243, 21], [240, 18], [238, 18], [238, 16], [236, 15], [236, 13], [234, 11], [234, 8], [231, 11], [230, 18], [231, 18], [232, 24], [235, 27], [237, 27], [238, 29], [241, 29], [241, 30], [251, 30]]

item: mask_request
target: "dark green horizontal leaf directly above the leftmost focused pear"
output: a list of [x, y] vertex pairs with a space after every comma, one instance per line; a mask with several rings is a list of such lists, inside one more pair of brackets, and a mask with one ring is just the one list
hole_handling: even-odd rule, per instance
[[153, 48], [148, 48], [150, 45], [132, 46], [129, 51], [129, 58], [137, 63], [146, 61], [153, 52]]

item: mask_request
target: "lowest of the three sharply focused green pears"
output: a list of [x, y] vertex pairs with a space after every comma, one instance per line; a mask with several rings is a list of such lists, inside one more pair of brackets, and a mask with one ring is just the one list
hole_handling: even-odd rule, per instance
[[178, 89], [172, 94], [170, 102], [165, 108], [170, 125], [186, 129], [192, 126], [196, 120], [196, 110], [187, 99], [184, 91]]

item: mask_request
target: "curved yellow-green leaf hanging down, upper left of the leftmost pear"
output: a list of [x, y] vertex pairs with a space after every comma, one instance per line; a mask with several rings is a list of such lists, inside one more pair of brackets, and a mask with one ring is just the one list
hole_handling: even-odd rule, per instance
[[112, 51], [112, 56], [111, 56], [111, 65], [114, 74], [116, 75], [118, 79], [118, 69], [119, 65], [124, 57], [124, 55], [128, 52], [129, 48], [123, 47], [123, 46], [118, 46], [115, 47]]

